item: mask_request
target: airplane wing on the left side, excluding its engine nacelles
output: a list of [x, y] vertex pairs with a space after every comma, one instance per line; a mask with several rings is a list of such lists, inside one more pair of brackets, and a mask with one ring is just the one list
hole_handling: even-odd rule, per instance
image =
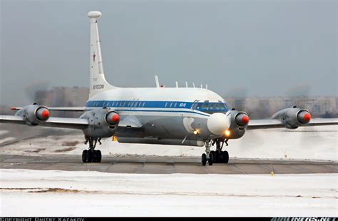
[[[0, 115], [0, 123], [26, 124], [26, 121], [21, 116]], [[82, 130], [88, 126], [88, 121], [86, 119], [80, 118], [48, 118], [48, 120], [39, 123], [39, 125], [54, 128], [71, 128]]]

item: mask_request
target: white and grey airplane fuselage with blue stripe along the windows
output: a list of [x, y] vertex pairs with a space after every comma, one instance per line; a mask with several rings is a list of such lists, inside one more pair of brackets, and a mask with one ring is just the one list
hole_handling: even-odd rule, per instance
[[210, 114], [228, 111], [223, 98], [205, 88], [114, 88], [86, 103], [90, 109], [103, 107], [118, 112], [121, 122], [142, 125], [141, 130], [118, 130], [119, 142], [177, 145], [203, 145], [211, 135]]

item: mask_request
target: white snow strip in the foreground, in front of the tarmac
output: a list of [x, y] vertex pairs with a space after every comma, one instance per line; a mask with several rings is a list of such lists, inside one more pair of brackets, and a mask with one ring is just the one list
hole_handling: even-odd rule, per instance
[[0, 216], [332, 216], [337, 175], [0, 170]]

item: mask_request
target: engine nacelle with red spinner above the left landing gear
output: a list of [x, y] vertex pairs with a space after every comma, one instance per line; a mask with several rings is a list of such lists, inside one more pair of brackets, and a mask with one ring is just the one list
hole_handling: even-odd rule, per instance
[[120, 115], [107, 108], [88, 111], [83, 113], [80, 118], [88, 120], [89, 125], [83, 130], [83, 133], [91, 138], [111, 137], [120, 122]]

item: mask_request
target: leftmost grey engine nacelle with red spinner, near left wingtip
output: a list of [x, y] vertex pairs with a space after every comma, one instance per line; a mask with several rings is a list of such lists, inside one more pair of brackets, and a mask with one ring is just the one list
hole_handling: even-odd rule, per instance
[[27, 125], [39, 125], [48, 120], [49, 113], [48, 108], [41, 106], [37, 103], [33, 103], [29, 106], [21, 108], [15, 115], [21, 116], [26, 121]]

